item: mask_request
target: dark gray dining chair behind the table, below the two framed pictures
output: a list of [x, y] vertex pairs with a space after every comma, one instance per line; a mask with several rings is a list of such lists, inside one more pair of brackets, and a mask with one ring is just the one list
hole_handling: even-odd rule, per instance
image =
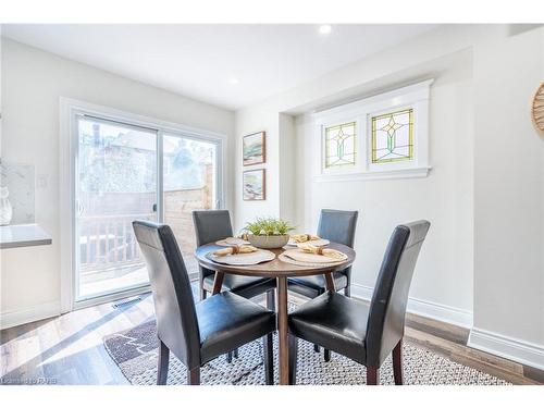
[[[233, 236], [231, 215], [227, 210], [198, 210], [193, 211], [193, 223], [197, 238], [197, 246], [215, 243], [220, 239]], [[206, 299], [207, 293], [213, 289], [215, 271], [199, 268], [200, 299]], [[240, 276], [226, 274], [223, 280], [223, 289], [233, 292], [245, 298], [252, 298], [267, 294], [267, 307], [275, 310], [275, 280], [267, 277]], [[234, 357], [238, 357], [238, 350], [234, 350]], [[232, 361], [232, 354], [226, 356]]]

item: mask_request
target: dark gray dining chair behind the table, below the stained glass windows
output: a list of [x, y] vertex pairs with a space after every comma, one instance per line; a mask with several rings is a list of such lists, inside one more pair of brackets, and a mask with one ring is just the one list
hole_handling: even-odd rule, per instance
[[[353, 248], [358, 215], [358, 211], [321, 210], [318, 235], [333, 243], [347, 245]], [[333, 277], [336, 290], [344, 290], [346, 296], [350, 296], [351, 267], [335, 272]], [[288, 285], [289, 290], [311, 299], [325, 292], [325, 279], [323, 275], [289, 277]], [[318, 345], [316, 345], [316, 351], [319, 351]], [[324, 359], [325, 361], [331, 359], [331, 351], [329, 349], [324, 350]]]

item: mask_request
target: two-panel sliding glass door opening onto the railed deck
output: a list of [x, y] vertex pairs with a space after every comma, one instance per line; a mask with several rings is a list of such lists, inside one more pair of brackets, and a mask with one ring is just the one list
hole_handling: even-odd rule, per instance
[[75, 122], [75, 304], [149, 286], [137, 219], [168, 223], [197, 273], [191, 212], [220, 206], [221, 143], [85, 114]]

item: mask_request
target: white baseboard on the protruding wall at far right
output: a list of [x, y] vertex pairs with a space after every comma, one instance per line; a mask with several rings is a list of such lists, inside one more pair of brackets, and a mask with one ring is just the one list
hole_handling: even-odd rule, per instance
[[544, 345], [472, 327], [468, 346], [544, 370]]

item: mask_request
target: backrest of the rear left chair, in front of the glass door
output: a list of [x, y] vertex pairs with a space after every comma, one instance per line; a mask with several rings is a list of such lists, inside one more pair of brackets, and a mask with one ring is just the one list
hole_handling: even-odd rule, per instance
[[193, 223], [198, 246], [233, 236], [227, 210], [193, 211]]

